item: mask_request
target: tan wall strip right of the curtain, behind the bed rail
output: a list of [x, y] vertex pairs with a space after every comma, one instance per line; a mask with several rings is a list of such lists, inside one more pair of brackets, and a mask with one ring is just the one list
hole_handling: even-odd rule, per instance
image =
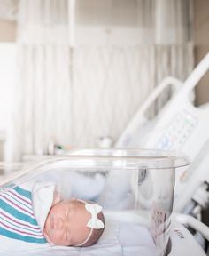
[[[194, 1], [194, 38], [195, 38], [195, 60], [197, 63], [209, 52], [209, 1]], [[197, 105], [209, 101], [209, 72], [204, 76], [197, 86]]]

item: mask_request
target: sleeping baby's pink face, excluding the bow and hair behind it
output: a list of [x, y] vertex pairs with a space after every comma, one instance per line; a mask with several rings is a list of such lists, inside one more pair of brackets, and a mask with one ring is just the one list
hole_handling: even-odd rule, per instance
[[77, 200], [60, 202], [51, 207], [43, 235], [52, 244], [81, 244], [89, 236], [89, 219], [90, 213], [86, 211], [85, 204]]

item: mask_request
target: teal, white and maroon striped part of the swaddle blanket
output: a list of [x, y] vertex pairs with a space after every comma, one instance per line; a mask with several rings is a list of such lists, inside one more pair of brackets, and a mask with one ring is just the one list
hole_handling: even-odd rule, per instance
[[35, 220], [31, 197], [30, 191], [19, 186], [1, 191], [0, 235], [28, 243], [47, 243]]

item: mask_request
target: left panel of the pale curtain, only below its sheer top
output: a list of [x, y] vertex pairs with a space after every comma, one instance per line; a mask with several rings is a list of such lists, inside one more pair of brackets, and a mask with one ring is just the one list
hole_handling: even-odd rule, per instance
[[[15, 93], [14, 159], [48, 153], [50, 140], [71, 141], [71, 81], [68, 45], [19, 45]], [[56, 141], [55, 141], [56, 142]]]

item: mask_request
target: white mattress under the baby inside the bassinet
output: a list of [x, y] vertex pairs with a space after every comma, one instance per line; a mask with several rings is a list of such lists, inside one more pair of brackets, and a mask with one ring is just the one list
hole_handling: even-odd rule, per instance
[[[12, 249], [11, 249], [12, 250]], [[17, 250], [17, 248], [16, 248]], [[120, 223], [116, 220], [106, 220], [106, 228], [99, 242], [88, 248], [54, 246], [50, 249], [35, 249], [25, 251], [1, 251], [6, 256], [154, 256], [156, 255], [148, 228], [135, 223]]]

